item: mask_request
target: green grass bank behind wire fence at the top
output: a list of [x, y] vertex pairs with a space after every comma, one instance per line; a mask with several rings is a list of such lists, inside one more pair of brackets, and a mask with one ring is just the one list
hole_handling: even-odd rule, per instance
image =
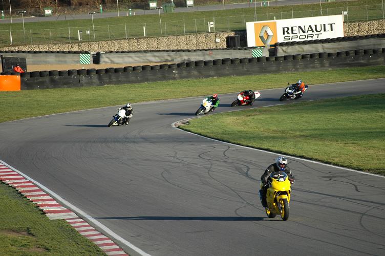
[[[306, 3], [306, 1], [304, 1]], [[373, 20], [383, 18], [381, 0], [358, 0], [348, 2], [323, 3], [322, 11], [319, 4], [304, 4], [295, 6], [274, 6], [256, 8], [256, 20], [287, 19], [341, 14], [349, 10], [349, 21]], [[123, 9], [121, 9], [123, 10]], [[102, 14], [96, 13], [94, 17]], [[215, 22], [215, 31], [245, 30], [246, 22], [254, 22], [254, 6], [250, 8], [231, 9], [203, 12], [161, 13], [161, 23], [158, 14], [120, 16], [113, 18], [94, 18], [95, 39], [110, 40], [143, 37], [143, 27], [147, 37], [165, 35], [184, 35], [208, 32], [207, 22]], [[160, 30], [160, 27], [162, 29]], [[93, 41], [94, 32], [92, 19], [69, 19], [53, 22], [0, 24], [1, 45], [10, 45], [10, 30], [13, 45], [51, 44], [72, 42], [78, 38], [78, 30], [83, 32], [83, 41]], [[91, 31], [86, 34], [85, 31]]]

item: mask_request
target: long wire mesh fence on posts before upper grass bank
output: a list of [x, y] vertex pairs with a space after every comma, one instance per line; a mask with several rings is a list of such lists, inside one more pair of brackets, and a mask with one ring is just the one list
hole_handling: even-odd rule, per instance
[[[272, 19], [289, 19], [312, 16], [336, 15], [345, 12], [345, 22], [383, 19], [385, 4], [323, 8], [322, 10], [258, 13], [228, 17], [186, 19], [173, 22], [118, 24], [88, 27], [65, 27], [55, 29], [0, 30], [0, 46], [58, 44], [72, 42], [102, 41], [138, 37], [159, 37], [207, 32], [245, 30], [247, 22]], [[209, 22], [213, 25], [209, 26]]]

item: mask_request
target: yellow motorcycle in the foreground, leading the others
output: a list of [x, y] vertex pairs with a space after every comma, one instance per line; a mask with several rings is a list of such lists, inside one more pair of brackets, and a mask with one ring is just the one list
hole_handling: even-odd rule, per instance
[[[266, 185], [261, 182], [261, 189], [268, 186], [266, 193], [267, 207], [265, 207], [267, 217], [275, 218], [279, 214], [284, 221], [289, 218], [291, 183], [294, 183], [294, 179], [289, 180], [285, 172], [270, 174], [269, 182]], [[260, 198], [262, 200], [262, 195], [260, 195]]]

